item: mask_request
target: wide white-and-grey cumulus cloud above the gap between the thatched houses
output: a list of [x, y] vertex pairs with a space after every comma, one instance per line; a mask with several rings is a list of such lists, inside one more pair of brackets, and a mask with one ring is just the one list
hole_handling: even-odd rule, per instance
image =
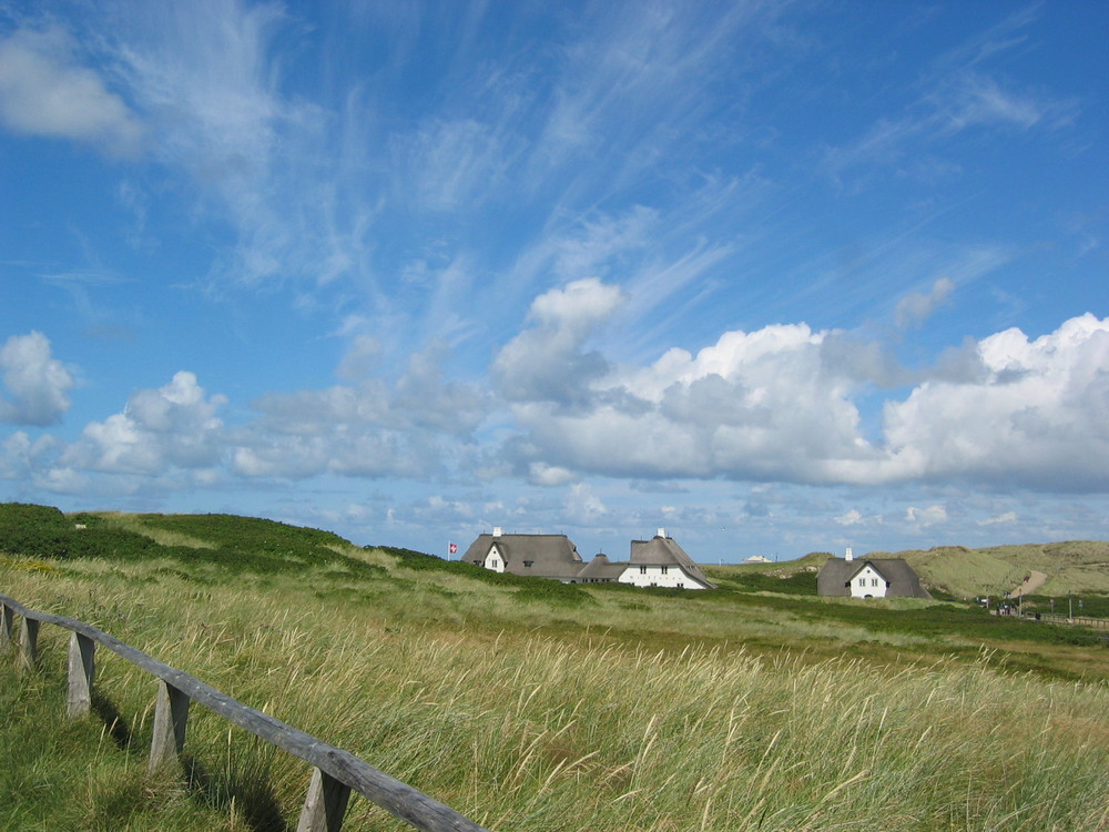
[[596, 381], [588, 407], [518, 403], [546, 461], [617, 476], [806, 479], [873, 454], [851, 384], [827, 372], [804, 324], [725, 333], [696, 356], [671, 349]]

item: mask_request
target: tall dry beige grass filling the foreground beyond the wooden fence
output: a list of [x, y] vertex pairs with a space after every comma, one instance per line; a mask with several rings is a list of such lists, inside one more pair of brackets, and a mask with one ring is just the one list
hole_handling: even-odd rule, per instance
[[[1107, 804], [1089, 799], [1109, 793], [1103, 684], [1014, 676], [990, 653], [952, 660], [912, 636], [821, 630], [775, 616], [772, 602], [744, 619], [695, 598], [600, 592], [567, 610], [367, 557], [393, 567], [378, 585], [334, 570], [217, 581], [180, 564], [108, 561], [50, 572], [0, 564], [0, 582], [492, 829], [1107, 822]], [[60, 672], [62, 635], [43, 638]], [[746, 638], [785, 649], [755, 655]], [[787, 649], [833, 639], [833, 658]], [[907, 658], [891, 659], [898, 651]], [[141, 747], [153, 686], [115, 657], [100, 672]], [[304, 764], [202, 709], [189, 749], [241, 808], [253, 800], [295, 815]], [[357, 802], [344, 829], [394, 826]]]

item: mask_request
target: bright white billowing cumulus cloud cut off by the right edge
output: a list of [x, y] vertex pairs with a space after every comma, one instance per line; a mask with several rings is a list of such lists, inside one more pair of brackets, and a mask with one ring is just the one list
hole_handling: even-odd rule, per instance
[[1109, 486], [1109, 318], [1071, 318], [1035, 341], [1007, 329], [978, 346], [979, 383], [925, 383], [885, 408], [878, 478]]

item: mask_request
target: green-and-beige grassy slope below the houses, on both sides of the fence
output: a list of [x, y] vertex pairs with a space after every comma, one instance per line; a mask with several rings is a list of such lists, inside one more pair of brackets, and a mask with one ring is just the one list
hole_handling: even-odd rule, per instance
[[[77, 518], [63, 519], [55, 541]], [[80, 519], [110, 556], [91, 555], [85, 532], [62, 540], [75, 558], [9, 548], [0, 591], [95, 623], [494, 828], [1107, 819], [1089, 795], [1109, 791], [1109, 650], [1081, 630], [915, 600], [830, 603], [804, 593], [812, 572], [752, 586], [713, 569], [724, 588], [705, 593], [563, 587], [244, 518]], [[135, 760], [153, 689], [114, 657], [99, 672], [115, 729], [51, 720], [64, 660], [52, 629], [41, 679], [0, 668], [6, 714], [68, 732], [50, 745], [61, 757], [7, 769], [0, 814], [21, 819], [8, 828], [295, 825], [304, 767], [211, 714], [190, 726], [193, 787], [150, 783]], [[4, 720], [3, 747], [30, 743], [27, 724]], [[33, 797], [74, 778], [49, 809]], [[364, 802], [344, 826], [391, 828]]]

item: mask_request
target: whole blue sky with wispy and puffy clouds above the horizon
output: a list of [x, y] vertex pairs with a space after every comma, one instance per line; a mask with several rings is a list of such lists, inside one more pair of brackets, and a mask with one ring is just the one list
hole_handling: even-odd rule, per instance
[[0, 499], [1109, 538], [1109, 6], [0, 0]]

